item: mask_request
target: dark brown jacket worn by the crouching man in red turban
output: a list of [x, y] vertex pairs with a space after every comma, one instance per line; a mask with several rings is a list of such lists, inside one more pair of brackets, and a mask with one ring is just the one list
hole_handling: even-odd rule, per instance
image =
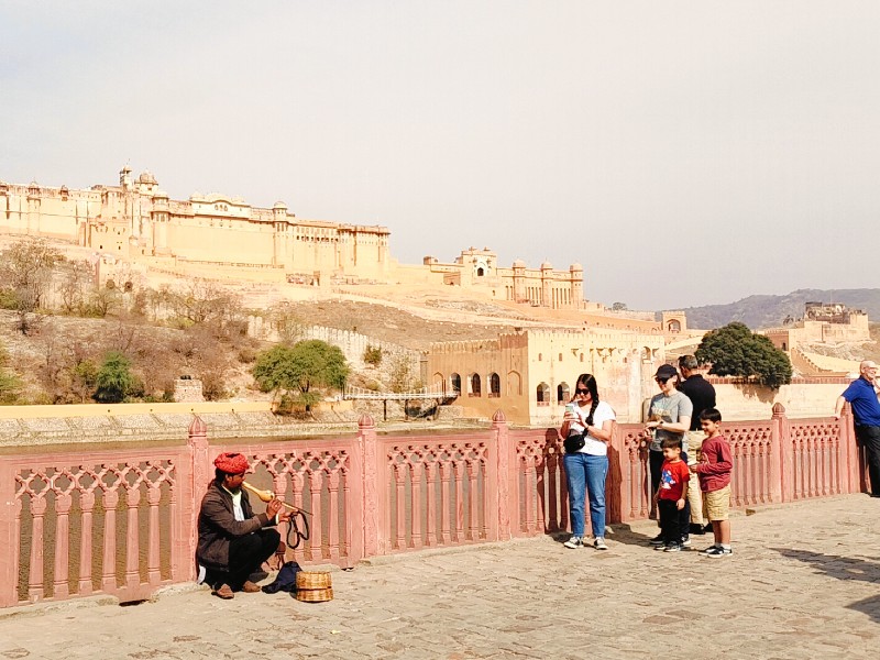
[[235, 520], [232, 510], [232, 495], [220, 487], [216, 481], [208, 486], [201, 499], [199, 510], [199, 543], [196, 558], [208, 569], [229, 569], [229, 543], [242, 537], [273, 525], [266, 514], [254, 515], [248, 493], [242, 491], [241, 509], [244, 520]]

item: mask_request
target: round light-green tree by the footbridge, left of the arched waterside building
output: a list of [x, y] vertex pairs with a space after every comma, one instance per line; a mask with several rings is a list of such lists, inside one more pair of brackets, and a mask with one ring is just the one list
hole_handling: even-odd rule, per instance
[[339, 346], [312, 339], [293, 346], [277, 344], [260, 353], [253, 374], [260, 388], [272, 392], [274, 399], [294, 394], [308, 411], [322, 392], [344, 387], [349, 365]]

